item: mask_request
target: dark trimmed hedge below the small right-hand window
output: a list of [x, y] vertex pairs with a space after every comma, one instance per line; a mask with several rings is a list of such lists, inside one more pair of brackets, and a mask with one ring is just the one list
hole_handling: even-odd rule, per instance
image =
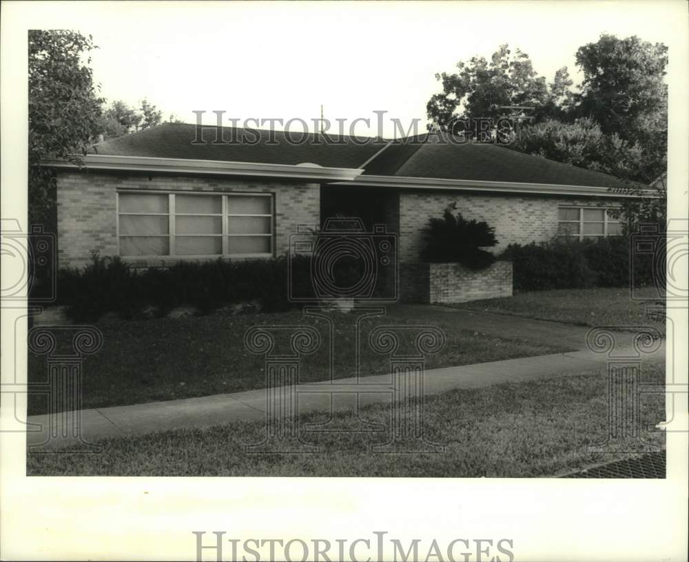
[[[512, 261], [514, 288], [520, 291], [628, 287], [630, 283], [627, 237], [511, 244], [500, 258]], [[635, 286], [653, 283], [650, 256], [636, 254], [633, 265]]]

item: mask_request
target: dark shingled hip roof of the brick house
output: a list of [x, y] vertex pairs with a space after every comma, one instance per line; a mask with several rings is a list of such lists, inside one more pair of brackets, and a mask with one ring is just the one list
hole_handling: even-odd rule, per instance
[[[292, 132], [299, 139], [300, 132]], [[248, 142], [214, 143], [216, 128], [205, 127], [205, 144], [194, 143], [196, 125], [163, 125], [99, 143], [96, 154], [254, 162], [315, 163], [331, 168], [362, 168], [363, 175], [500, 181], [549, 185], [627, 188], [608, 174], [531, 156], [491, 143], [440, 141], [434, 134], [398, 141], [329, 136], [329, 142], [308, 134], [294, 143], [282, 131], [223, 128], [225, 139]]]

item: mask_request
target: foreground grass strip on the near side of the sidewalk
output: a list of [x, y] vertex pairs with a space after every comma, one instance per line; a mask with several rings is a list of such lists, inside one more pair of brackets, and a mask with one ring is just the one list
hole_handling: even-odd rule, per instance
[[[250, 454], [263, 423], [232, 423], [206, 430], [176, 430], [102, 441], [94, 454], [30, 453], [29, 475], [65, 476], [552, 476], [628, 454], [588, 452], [607, 434], [606, 375], [579, 374], [489, 388], [452, 390], [424, 404], [426, 436], [444, 454], [375, 454], [385, 440], [361, 434], [307, 436], [314, 454]], [[645, 368], [642, 382], [662, 383], [662, 365]], [[642, 427], [664, 419], [665, 397], [644, 395]], [[389, 407], [364, 408], [362, 418], [384, 423]], [[322, 421], [322, 414], [303, 421]], [[352, 414], [336, 416], [340, 429], [357, 427]], [[663, 446], [660, 432], [644, 438]]]

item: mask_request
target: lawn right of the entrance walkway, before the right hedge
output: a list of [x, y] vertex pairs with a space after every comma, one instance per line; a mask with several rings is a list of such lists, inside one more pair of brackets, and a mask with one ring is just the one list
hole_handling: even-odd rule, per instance
[[[649, 288], [640, 293], [651, 299], [655, 296], [655, 289]], [[639, 292], [635, 292], [635, 296], [637, 294]], [[646, 302], [632, 300], [628, 288], [523, 292], [514, 297], [472, 301], [455, 306], [582, 326], [615, 326], [619, 330], [624, 330], [625, 326], [653, 325], [665, 333], [664, 323], [649, 319]]]

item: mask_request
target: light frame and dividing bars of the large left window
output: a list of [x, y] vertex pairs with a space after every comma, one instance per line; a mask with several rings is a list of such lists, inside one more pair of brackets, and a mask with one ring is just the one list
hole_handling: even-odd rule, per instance
[[[167, 195], [167, 213], [151, 213], [151, 212], [121, 212], [120, 211], [120, 195], [121, 194], [147, 194], [147, 195]], [[221, 214], [218, 213], [180, 213], [183, 217], [220, 217], [221, 218], [221, 232], [220, 234], [179, 234], [183, 237], [220, 237], [222, 241], [220, 254], [177, 254], [176, 253], [176, 195], [192, 195], [196, 197], [220, 197], [221, 198]], [[270, 203], [269, 214], [229, 214], [229, 199], [232, 197], [267, 197]], [[120, 232], [120, 217], [122, 215], [129, 216], [161, 216], [167, 217], [167, 234], [121, 234]], [[270, 232], [266, 234], [229, 234], [229, 223], [232, 217], [263, 217], [269, 219]], [[217, 258], [271, 258], [275, 255], [275, 197], [274, 193], [257, 193], [257, 192], [189, 192], [184, 190], [175, 191], [158, 191], [158, 190], [117, 190], [116, 191], [116, 232], [117, 232], [117, 254], [128, 260], [133, 259], [160, 259], [160, 260], [174, 260], [181, 261], [185, 259], [217, 259]], [[123, 255], [121, 253], [121, 237], [152, 237], [158, 236], [160, 238], [167, 237], [168, 239], [168, 254], [146, 254], [146, 255]], [[268, 237], [270, 241], [269, 252], [230, 254], [229, 253], [229, 237]]]

